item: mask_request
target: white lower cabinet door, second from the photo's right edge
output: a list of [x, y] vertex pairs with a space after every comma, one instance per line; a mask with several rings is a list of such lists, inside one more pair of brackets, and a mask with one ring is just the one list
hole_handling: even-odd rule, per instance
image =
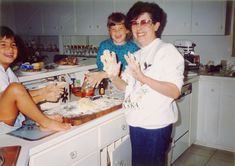
[[213, 80], [200, 80], [197, 135], [205, 144], [215, 144], [218, 136], [219, 86], [219, 82]]

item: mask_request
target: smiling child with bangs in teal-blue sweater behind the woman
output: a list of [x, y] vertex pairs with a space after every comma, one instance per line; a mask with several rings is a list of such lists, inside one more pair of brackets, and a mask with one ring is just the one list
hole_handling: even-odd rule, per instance
[[120, 12], [112, 13], [108, 17], [107, 27], [110, 38], [100, 43], [96, 56], [96, 64], [99, 72], [87, 74], [88, 81], [92, 86], [98, 86], [104, 78], [108, 78], [107, 73], [103, 71], [103, 63], [100, 59], [105, 50], [116, 54], [117, 61], [121, 62], [121, 70], [124, 71], [127, 65], [124, 55], [127, 55], [128, 52], [134, 53], [139, 49], [139, 47], [130, 40], [130, 31], [125, 26], [125, 19], [126, 16]]

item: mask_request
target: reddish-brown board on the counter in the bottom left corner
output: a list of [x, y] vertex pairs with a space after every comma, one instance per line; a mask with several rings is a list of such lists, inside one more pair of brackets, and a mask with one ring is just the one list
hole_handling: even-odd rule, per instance
[[16, 165], [21, 146], [0, 147], [0, 165], [14, 166]]

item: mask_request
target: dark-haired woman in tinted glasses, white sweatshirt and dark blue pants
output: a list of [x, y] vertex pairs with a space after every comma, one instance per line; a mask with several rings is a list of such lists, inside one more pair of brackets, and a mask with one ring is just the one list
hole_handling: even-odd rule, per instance
[[133, 166], [166, 165], [172, 124], [178, 119], [175, 99], [183, 85], [184, 59], [158, 37], [162, 15], [157, 4], [148, 2], [137, 2], [128, 11], [127, 27], [141, 49], [125, 57], [128, 67], [121, 77], [116, 57], [102, 58], [113, 84], [125, 90]]

